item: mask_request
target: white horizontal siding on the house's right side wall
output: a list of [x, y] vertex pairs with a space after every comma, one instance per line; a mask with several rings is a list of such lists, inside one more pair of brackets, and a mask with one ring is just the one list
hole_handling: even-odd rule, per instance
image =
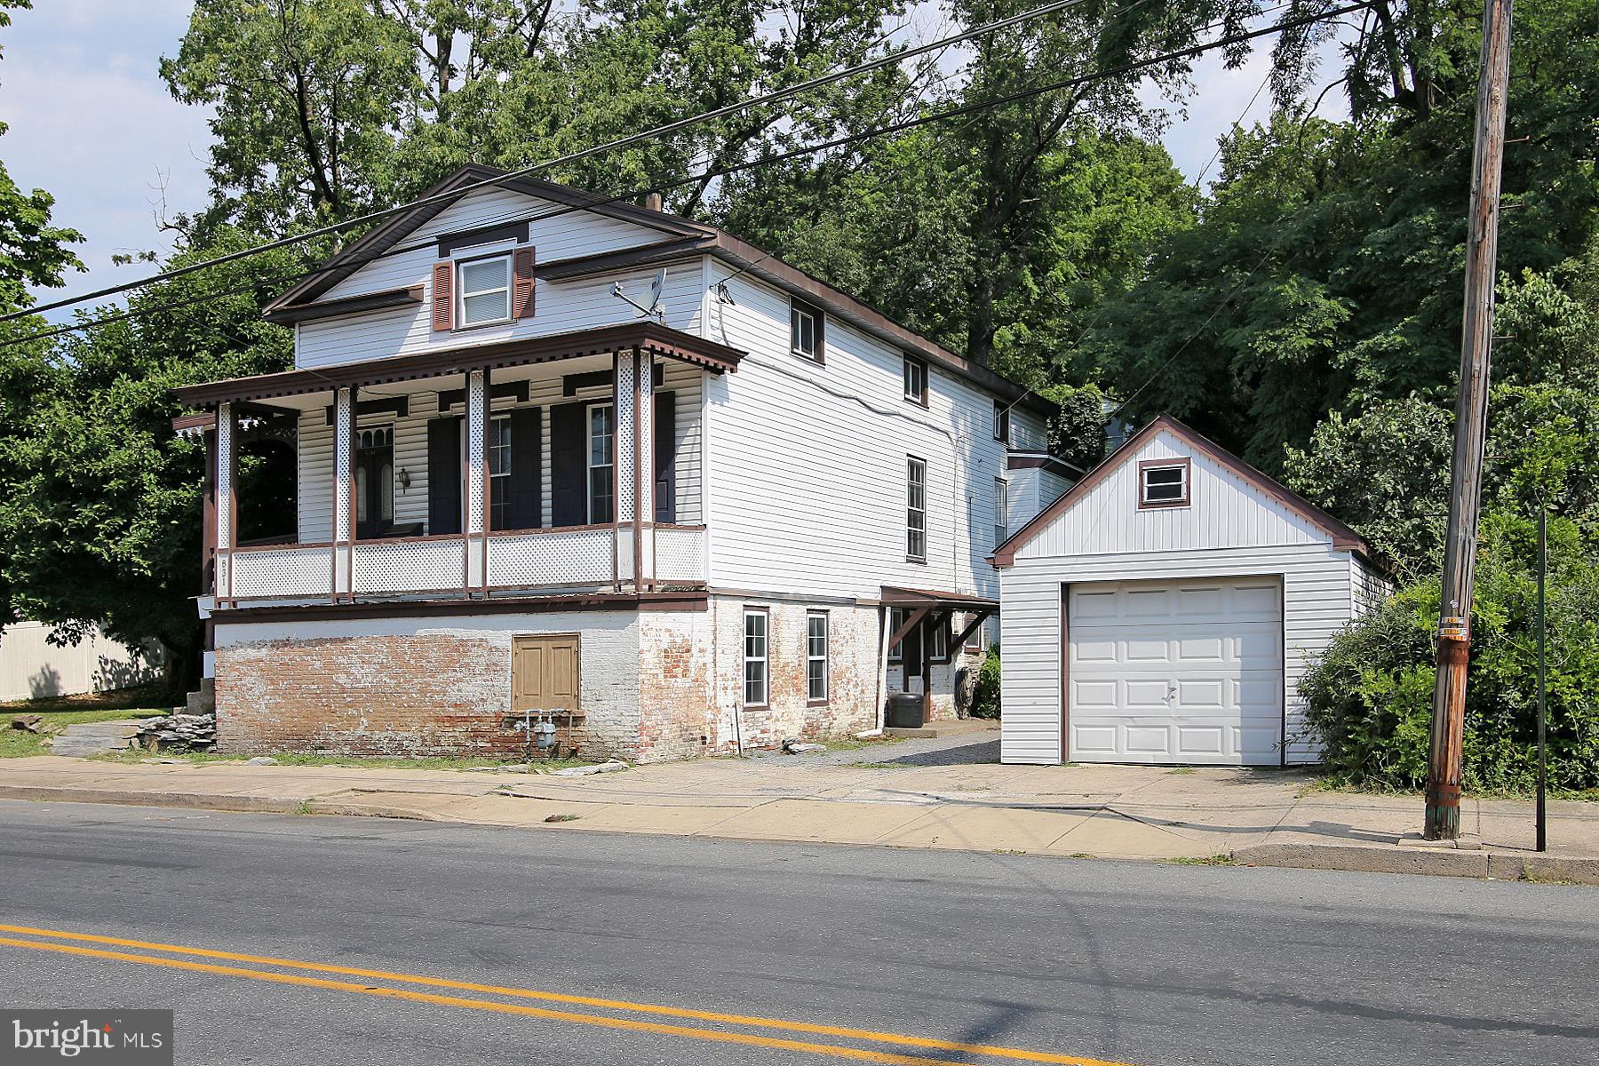
[[[710, 286], [718, 283], [732, 304], [708, 300], [708, 336], [748, 356], [736, 374], [707, 379], [712, 583], [998, 596], [987, 558], [1006, 447], [993, 438], [993, 396], [932, 366], [927, 406], [908, 403], [897, 348], [828, 316], [825, 361], [796, 356], [784, 292], [713, 262]], [[1043, 419], [1017, 409], [1012, 432], [1043, 440]], [[905, 558], [908, 455], [927, 463], [926, 563]]]

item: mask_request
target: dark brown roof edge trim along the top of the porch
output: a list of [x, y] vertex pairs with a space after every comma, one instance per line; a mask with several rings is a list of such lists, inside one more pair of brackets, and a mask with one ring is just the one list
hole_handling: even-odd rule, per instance
[[381, 385], [387, 382], [416, 380], [419, 377], [443, 377], [475, 369], [523, 366], [528, 363], [553, 363], [584, 355], [604, 355], [641, 348], [651, 355], [704, 366], [716, 374], [739, 369], [744, 352], [716, 344], [705, 337], [686, 334], [681, 329], [643, 320], [598, 329], [504, 340], [441, 352], [421, 352], [363, 363], [345, 363], [321, 369], [281, 371], [235, 377], [201, 385], [174, 388], [177, 400], [192, 408], [209, 408], [224, 400], [264, 400], [269, 396], [293, 396], [302, 393], [347, 388], [350, 385]]

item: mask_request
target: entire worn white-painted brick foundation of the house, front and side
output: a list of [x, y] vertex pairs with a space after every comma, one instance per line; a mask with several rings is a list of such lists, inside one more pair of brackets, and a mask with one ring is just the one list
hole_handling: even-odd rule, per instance
[[[744, 607], [769, 612], [771, 698], [745, 708]], [[828, 740], [878, 724], [876, 607], [830, 604], [828, 698], [806, 692], [801, 603], [713, 596], [707, 611], [257, 622], [216, 626], [217, 750], [521, 758], [508, 724], [520, 633], [580, 634], [580, 753], [659, 762]], [[975, 660], [972, 660], [975, 662]], [[934, 716], [953, 718], [956, 663], [934, 666]], [[566, 730], [561, 730], [564, 740]]]

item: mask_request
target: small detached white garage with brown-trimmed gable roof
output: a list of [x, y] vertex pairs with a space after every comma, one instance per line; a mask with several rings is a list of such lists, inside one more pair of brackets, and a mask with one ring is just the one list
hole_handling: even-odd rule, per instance
[[1298, 678], [1386, 593], [1353, 531], [1167, 417], [995, 564], [1004, 762], [1313, 762]]

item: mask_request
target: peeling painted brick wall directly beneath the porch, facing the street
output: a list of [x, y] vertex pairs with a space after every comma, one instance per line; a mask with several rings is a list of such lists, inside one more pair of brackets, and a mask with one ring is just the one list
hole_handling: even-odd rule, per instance
[[243, 623], [216, 628], [217, 748], [520, 756], [516, 633], [582, 633], [584, 754], [638, 758], [630, 612]]

